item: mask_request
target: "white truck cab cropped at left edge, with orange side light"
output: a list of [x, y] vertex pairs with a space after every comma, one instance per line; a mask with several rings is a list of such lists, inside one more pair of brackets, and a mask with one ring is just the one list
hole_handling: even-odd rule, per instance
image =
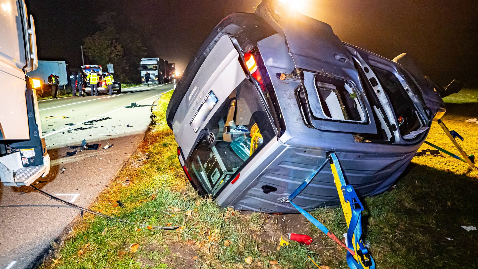
[[35, 89], [42, 81], [26, 75], [38, 67], [35, 25], [23, 0], [0, 9], [0, 181], [28, 186], [50, 171]]

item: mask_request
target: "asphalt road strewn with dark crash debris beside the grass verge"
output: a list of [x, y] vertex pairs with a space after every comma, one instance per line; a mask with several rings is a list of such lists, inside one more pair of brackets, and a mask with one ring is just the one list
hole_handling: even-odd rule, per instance
[[[87, 207], [136, 150], [151, 123], [151, 106], [124, 108], [131, 102], [151, 105], [174, 83], [123, 89], [121, 94], [67, 97], [39, 101], [43, 137], [52, 159], [48, 176], [35, 186], [68, 202]], [[51, 117], [51, 118], [49, 118]], [[65, 118], [64, 118], [65, 117]], [[86, 121], [111, 119], [85, 125]], [[69, 126], [69, 123], [73, 123]], [[128, 124], [130, 127], [127, 127]], [[71, 128], [91, 127], [69, 131]], [[74, 156], [69, 146], [99, 143], [98, 150]], [[106, 145], [113, 145], [104, 149]], [[44, 182], [42, 182], [44, 181]], [[38, 181], [37, 181], [38, 182]], [[79, 211], [28, 187], [0, 188], [0, 269], [27, 269], [36, 265], [52, 242], [71, 230]]]

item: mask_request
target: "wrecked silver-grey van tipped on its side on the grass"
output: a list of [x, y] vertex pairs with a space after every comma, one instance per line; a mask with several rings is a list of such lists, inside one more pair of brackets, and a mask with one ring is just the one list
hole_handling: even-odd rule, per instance
[[[393, 61], [340, 41], [294, 13], [234, 13], [212, 31], [174, 91], [166, 117], [199, 193], [224, 207], [290, 213], [287, 197], [333, 150], [360, 197], [386, 191], [445, 112], [450, 90], [409, 56]], [[295, 199], [339, 204], [330, 168]]]

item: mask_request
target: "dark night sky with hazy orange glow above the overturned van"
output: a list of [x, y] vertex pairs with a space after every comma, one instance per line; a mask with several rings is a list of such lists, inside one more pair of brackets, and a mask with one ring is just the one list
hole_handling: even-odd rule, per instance
[[[478, 1], [302, 0], [299, 11], [326, 22], [342, 41], [392, 59], [405, 52], [441, 84], [478, 86]], [[95, 18], [116, 12], [121, 29], [143, 37], [149, 57], [184, 71], [206, 36], [231, 12], [253, 12], [260, 0], [27, 0], [40, 60], [81, 65], [83, 38]], [[87, 64], [89, 59], [85, 59]]]

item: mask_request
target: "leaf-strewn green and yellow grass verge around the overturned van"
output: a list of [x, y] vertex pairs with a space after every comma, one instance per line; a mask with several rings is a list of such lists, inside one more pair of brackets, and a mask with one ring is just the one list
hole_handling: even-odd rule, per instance
[[[267, 229], [281, 225], [272, 222], [275, 215], [222, 209], [211, 198], [198, 196], [179, 167], [174, 135], [164, 121], [171, 94], [154, 108], [156, 124], [137, 154], [91, 208], [140, 224], [181, 227], [138, 230], [87, 214], [41, 269], [316, 268], [307, 256], [323, 269], [348, 268], [346, 252], [308, 222], [304, 233], [315, 239], [313, 245], [291, 242], [278, 249], [277, 238], [265, 236]], [[466, 138], [462, 145], [469, 153], [478, 153], [478, 124], [465, 123], [476, 117], [472, 96], [466, 90], [449, 97], [443, 121]], [[456, 152], [435, 123], [428, 140]], [[415, 157], [396, 189], [362, 199], [364, 239], [377, 268], [476, 268], [477, 232], [460, 225], [478, 226], [477, 179], [477, 169], [452, 157]], [[115, 207], [118, 200], [124, 208]], [[346, 232], [340, 208], [312, 214], [338, 237]], [[139, 248], [132, 252], [129, 247], [135, 243]], [[251, 264], [247, 257], [253, 258]]]

